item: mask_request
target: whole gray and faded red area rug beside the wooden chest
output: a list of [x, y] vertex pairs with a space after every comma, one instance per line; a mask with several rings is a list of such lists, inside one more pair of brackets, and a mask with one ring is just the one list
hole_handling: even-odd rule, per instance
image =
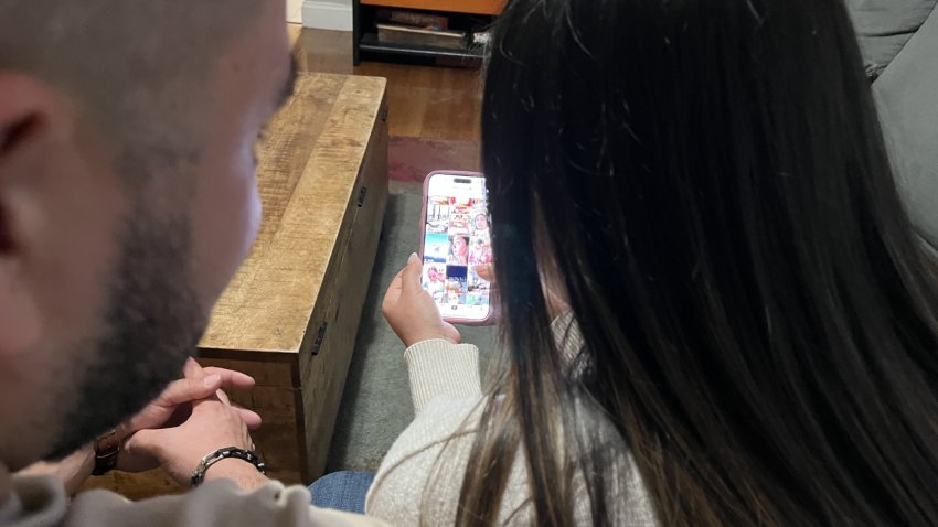
[[[327, 472], [375, 471], [391, 444], [414, 419], [404, 345], [381, 314], [394, 275], [420, 243], [423, 182], [434, 170], [479, 170], [479, 143], [393, 137], [388, 144], [391, 195], [367, 299], [355, 340]], [[482, 372], [495, 330], [459, 327], [462, 342], [479, 346]]]

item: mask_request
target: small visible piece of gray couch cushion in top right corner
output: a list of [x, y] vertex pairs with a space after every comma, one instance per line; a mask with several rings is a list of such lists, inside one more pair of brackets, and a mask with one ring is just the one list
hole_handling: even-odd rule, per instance
[[938, 0], [846, 0], [863, 63], [877, 77], [918, 30]]

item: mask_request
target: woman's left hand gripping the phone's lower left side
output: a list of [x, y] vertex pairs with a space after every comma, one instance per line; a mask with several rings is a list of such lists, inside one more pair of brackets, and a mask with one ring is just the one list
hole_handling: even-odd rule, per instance
[[394, 277], [384, 294], [381, 304], [384, 318], [407, 347], [434, 338], [458, 344], [459, 332], [443, 321], [434, 299], [420, 287], [422, 273], [420, 258], [411, 255], [407, 266]]

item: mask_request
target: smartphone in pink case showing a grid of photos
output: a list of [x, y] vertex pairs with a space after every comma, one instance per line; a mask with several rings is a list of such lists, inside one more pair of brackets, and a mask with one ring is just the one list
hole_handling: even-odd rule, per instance
[[424, 182], [422, 283], [443, 319], [479, 325], [492, 320], [492, 286], [476, 269], [492, 262], [486, 178], [436, 171]]

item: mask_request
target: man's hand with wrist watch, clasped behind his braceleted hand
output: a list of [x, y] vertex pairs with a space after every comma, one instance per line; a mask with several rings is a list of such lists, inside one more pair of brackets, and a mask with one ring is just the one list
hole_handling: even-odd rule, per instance
[[[141, 472], [160, 465], [157, 458], [126, 448], [127, 439], [134, 433], [140, 430], [173, 427], [185, 421], [192, 411], [193, 401], [214, 398], [215, 394], [223, 388], [247, 389], [253, 386], [254, 379], [248, 375], [224, 368], [203, 368], [190, 358], [183, 368], [183, 378], [170, 383], [163, 392], [140, 413], [117, 428], [118, 438], [121, 443], [125, 443], [125, 448], [117, 458], [117, 470]], [[247, 428], [253, 430], [260, 426], [260, 416], [257, 413], [237, 406], [232, 408], [241, 416]]]

